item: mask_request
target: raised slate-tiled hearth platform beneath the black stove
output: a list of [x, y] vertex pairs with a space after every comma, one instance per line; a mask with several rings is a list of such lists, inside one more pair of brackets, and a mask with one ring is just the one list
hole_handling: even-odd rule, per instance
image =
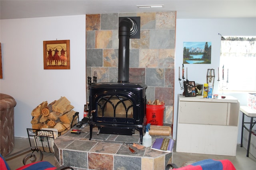
[[[137, 152], [133, 154], [124, 142], [140, 144], [138, 131], [133, 135], [97, 135], [98, 128], [95, 127], [92, 140], [89, 141], [89, 126], [80, 130], [84, 133], [78, 135], [68, 132], [54, 140], [57, 164], [64, 162], [79, 169], [158, 170], [164, 169], [166, 164], [172, 162], [172, 152], [159, 152], [150, 147], [137, 149], [130, 145]], [[152, 141], [156, 137], [163, 136], [153, 136]], [[79, 160], [76, 159], [78, 157]]]

